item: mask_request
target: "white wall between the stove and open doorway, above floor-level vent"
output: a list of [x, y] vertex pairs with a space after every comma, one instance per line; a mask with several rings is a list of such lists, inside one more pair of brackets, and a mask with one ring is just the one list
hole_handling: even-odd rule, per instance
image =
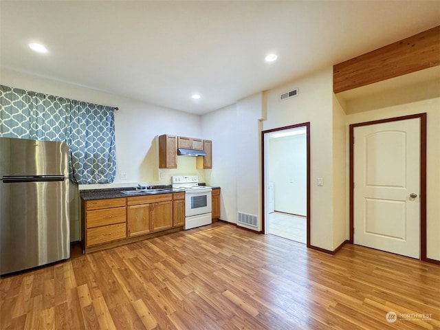
[[[212, 140], [211, 186], [221, 186], [221, 219], [256, 215], [261, 230], [260, 134], [263, 95], [254, 94], [202, 116], [203, 138]], [[243, 224], [241, 224], [243, 225]], [[246, 225], [243, 225], [246, 226]], [[256, 228], [249, 227], [253, 230]]]

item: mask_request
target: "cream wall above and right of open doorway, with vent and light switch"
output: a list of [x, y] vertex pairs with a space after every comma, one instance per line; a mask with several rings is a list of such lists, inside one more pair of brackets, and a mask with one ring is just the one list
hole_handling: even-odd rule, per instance
[[[298, 96], [280, 95], [298, 87]], [[333, 250], [333, 68], [310, 74], [265, 92], [267, 121], [263, 129], [310, 122], [311, 131], [311, 245]], [[317, 186], [321, 177], [324, 186]]]

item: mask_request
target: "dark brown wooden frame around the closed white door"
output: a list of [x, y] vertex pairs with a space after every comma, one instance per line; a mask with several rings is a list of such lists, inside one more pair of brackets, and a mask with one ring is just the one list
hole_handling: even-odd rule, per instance
[[350, 124], [350, 240], [354, 244], [354, 129], [359, 126], [382, 124], [384, 122], [397, 122], [400, 120], [420, 119], [420, 260], [428, 261], [426, 258], [426, 113], [404, 115], [395, 118], [373, 120], [371, 122], [359, 122]]

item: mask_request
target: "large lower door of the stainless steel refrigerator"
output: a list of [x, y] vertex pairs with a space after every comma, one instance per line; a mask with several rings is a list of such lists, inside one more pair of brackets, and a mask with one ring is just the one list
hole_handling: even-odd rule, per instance
[[70, 256], [69, 180], [0, 181], [0, 274]]

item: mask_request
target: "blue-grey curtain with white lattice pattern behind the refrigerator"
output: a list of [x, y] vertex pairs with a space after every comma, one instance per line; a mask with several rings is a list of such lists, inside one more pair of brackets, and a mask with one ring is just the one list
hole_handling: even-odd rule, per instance
[[107, 184], [116, 175], [114, 108], [0, 85], [0, 136], [69, 144], [69, 173], [78, 184]]

